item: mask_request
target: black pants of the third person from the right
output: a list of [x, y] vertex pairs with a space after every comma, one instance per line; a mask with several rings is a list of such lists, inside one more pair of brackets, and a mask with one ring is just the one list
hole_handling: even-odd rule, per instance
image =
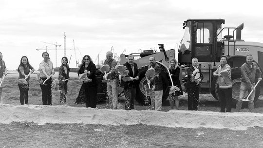
[[199, 87], [189, 88], [188, 93], [188, 110], [189, 111], [197, 111], [198, 109], [198, 101], [199, 101]]

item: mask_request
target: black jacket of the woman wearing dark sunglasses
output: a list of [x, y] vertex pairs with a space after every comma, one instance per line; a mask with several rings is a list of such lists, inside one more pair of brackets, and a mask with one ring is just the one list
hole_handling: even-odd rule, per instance
[[91, 74], [87, 74], [87, 77], [89, 79], [92, 79], [91, 82], [87, 83], [87, 86], [97, 86], [97, 77], [96, 77], [96, 66], [94, 63], [90, 63], [87, 68], [85, 68], [85, 64], [80, 67], [78, 70], [77, 74], [83, 74], [84, 71], [87, 70], [88, 72], [90, 71]]

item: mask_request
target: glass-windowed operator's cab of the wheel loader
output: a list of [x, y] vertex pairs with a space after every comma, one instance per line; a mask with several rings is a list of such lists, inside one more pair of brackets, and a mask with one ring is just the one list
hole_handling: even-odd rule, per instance
[[[217, 34], [225, 19], [188, 19], [183, 23], [184, 37], [178, 49], [178, 63], [190, 64], [193, 57], [199, 62], [219, 61], [222, 50]], [[216, 51], [217, 50], [217, 51]]]

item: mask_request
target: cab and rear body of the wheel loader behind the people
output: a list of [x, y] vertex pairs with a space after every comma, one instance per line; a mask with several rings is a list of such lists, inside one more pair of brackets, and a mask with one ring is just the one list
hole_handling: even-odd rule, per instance
[[[263, 43], [244, 41], [241, 38], [243, 23], [238, 27], [225, 28], [222, 28], [222, 24], [225, 24], [225, 19], [188, 19], [184, 21], [185, 34], [178, 49], [180, 77], [184, 84], [187, 68], [191, 66], [191, 59], [198, 58], [199, 67], [204, 75], [201, 82], [201, 93], [211, 93], [216, 99], [219, 99], [217, 76], [214, 76], [213, 72], [221, 64], [220, 56], [225, 55], [228, 59], [227, 64], [232, 68], [232, 98], [238, 100], [241, 84], [240, 68], [246, 62], [246, 55], [251, 54], [253, 62], [259, 65], [261, 71], [263, 70]], [[260, 89], [261, 87], [256, 88], [254, 101], [258, 100]]]

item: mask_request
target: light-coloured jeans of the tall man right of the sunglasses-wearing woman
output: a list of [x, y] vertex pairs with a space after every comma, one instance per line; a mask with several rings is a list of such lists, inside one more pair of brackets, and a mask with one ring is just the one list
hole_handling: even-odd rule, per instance
[[111, 109], [117, 109], [118, 104], [118, 79], [113, 79], [107, 82], [107, 105]]

